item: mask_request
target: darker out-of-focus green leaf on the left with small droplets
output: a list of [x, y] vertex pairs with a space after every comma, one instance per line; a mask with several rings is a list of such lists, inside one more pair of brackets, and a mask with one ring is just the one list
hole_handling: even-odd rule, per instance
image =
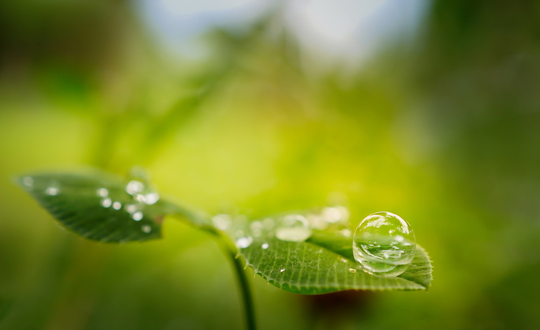
[[141, 203], [140, 196], [126, 192], [127, 181], [102, 172], [38, 174], [18, 182], [60, 225], [97, 241], [160, 238], [164, 215], [176, 210], [161, 199]]

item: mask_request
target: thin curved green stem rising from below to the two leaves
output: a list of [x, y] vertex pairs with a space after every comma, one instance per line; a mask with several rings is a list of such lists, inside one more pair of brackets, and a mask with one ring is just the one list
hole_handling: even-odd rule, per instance
[[218, 237], [221, 250], [227, 255], [229, 260], [231, 260], [234, 272], [238, 280], [238, 286], [240, 288], [240, 294], [242, 302], [244, 303], [244, 316], [246, 318], [246, 329], [255, 330], [257, 329], [257, 324], [255, 323], [255, 306], [253, 305], [253, 295], [251, 293], [251, 288], [249, 287], [249, 281], [244, 271], [244, 265], [242, 261], [237, 257], [236, 248], [232, 248], [229, 243], [228, 238], [219, 235]]

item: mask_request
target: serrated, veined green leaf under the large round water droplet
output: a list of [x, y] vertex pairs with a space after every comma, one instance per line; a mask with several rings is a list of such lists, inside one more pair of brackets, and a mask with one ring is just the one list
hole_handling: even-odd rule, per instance
[[305, 242], [282, 241], [272, 235], [262, 235], [253, 239], [248, 247], [241, 248], [239, 254], [256, 274], [276, 287], [294, 293], [428, 289], [431, 262], [421, 246], [417, 245], [408, 270], [399, 277], [390, 278], [359, 270], [352, 246], [352, 238], [336, 233], [314, 233]]

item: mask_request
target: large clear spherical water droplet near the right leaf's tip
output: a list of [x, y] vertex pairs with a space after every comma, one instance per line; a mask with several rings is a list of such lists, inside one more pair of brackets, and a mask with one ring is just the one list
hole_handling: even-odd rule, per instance
[[354, 232], [354, 259], [369, 274], [392, 277], [403, 273], [413, 262], [415, 250], [410, 225], [390, 212], [369, 215]]

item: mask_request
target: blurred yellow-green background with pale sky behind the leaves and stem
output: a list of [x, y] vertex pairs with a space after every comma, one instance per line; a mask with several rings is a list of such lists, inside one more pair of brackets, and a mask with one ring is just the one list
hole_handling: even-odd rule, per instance
[[[207, 235], [169, 219], [163, 240], [87, 241], [12, 184], [132, 165], [209, 213], [394, 212], [434, 260], [429, 292], [308, 297], [255, 277], [261, 329], [540, 327], [540, 1], [167, 16], [179, 3], [0, 2], [1, 329], [242, 328]], [[362, 29], [342, 48], [313, 37], [335, 22]]]

